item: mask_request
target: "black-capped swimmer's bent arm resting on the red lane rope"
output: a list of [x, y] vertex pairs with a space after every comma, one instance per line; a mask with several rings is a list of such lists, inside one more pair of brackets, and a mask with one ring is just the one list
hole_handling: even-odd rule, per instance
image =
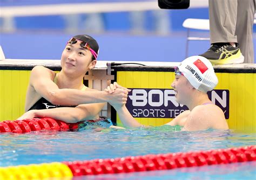
[[53, 118], [66, 123], [77, 123], [82, 120], [90, 120], [97, 116], [105, 103], [82, 104], [76, 107], [58, 107], [45, 110], [30, 110], [19, 117], [18, 120], [30, 118]]

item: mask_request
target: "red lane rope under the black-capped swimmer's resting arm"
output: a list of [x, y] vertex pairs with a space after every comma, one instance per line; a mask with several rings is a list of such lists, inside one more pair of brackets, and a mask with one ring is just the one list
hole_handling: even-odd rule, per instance
[[52, 118], [33, 118], [0, 122], [0, 133], [29, 133], [32, 131], [52, 130], [52, 131], [69, 131], [78, 129], [78, 123], [65, 123], [64, 121]]

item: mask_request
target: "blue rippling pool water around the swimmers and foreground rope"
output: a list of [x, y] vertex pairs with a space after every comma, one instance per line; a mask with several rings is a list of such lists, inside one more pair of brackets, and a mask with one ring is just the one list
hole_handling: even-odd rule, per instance
[[[190, 152], [256, 144], [256, 134], [231, 130], [185, 132], [179, 126], [110, 129], [109, 123], [89, 124], [77, 132], [0, 134], [0, 167], [31, 163], [109, 159], [123, 156]], [[87, 176], [88, 179], [248, 179], [256, 162], [180, 168], [165, 171]], [[226, 170], [225, 170], [226, 169]], [[83, 179], [75, 177], [73, 179]]]

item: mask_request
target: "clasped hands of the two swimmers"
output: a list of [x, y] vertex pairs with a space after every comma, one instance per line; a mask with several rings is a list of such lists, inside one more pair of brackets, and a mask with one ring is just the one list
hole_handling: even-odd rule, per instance
[[118, 109], [126, 104], [128, 92], [131, 90], [122, 87], [117, 84], [117, 82], [114, 82], [104, 89], [104, 91], [109, 93], [108, 102], [114, 107], [114, 109]]

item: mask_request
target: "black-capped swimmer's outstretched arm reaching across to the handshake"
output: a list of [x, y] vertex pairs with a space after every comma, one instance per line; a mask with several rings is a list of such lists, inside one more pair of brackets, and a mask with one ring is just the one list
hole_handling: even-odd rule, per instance
[[[30, 85], [42, 97], [52, 104], [79, 105], [89, 103], [122, 102], [127, 97], [127, 91], [117, 89], [112, 94], [105, 91], [81, 91], [76, 89], [59, 89], [53, 82], [53, 71], [42, 66], [36, 66], [31, 71]], [[29, 94], [28, 94], [29, 96]]]

